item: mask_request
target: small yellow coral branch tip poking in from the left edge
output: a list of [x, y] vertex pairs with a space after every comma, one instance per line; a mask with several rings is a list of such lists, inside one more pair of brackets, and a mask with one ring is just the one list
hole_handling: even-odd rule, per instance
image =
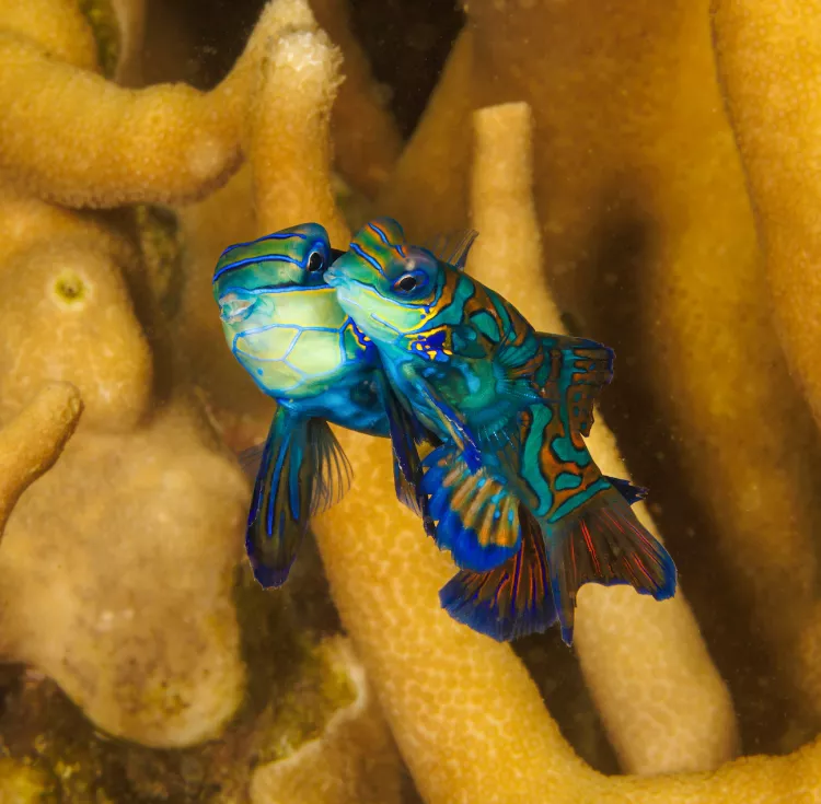
[[0, 535], [23, 491], [59, 457], [81, 412], [71, 383], [48, 383], [0, 429]]

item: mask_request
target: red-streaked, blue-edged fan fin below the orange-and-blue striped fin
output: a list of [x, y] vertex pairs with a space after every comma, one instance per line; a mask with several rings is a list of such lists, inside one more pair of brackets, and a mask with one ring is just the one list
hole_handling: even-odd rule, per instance
[[499, 642], [546, 631], [556, 621], [539, 524], [521, 511], [519, 551], [488, 572], [462, 570], [439, 592], [448, 614]]

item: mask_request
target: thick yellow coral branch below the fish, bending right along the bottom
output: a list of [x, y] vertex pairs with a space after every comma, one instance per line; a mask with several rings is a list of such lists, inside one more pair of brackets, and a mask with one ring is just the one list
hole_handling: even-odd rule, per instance
[[821, 801], [821, 741], [712, 773], [603, 777], [562, 737], [507, 645], [448, 617], [454, 568], [398, 505], [384, 442], [337, 431], [356, 471], [314, 532], [334, 601], [428, 804], [788, 804]]

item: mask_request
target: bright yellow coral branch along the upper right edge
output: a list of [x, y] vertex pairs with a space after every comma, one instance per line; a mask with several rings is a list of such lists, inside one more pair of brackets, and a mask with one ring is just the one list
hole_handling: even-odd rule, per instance
[[821, 424], [821, 7], [715, 0], [713, 25], [782, 340]]

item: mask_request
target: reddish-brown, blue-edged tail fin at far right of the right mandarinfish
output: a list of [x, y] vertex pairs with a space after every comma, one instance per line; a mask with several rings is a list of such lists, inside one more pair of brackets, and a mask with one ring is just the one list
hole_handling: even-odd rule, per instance
[[614, 488], [545, 526], [553, 599], [562, 639], [573, 642], [576, 594], [586, 583], [627, 584], [664, 601], [675, 594], [675, 564]]

